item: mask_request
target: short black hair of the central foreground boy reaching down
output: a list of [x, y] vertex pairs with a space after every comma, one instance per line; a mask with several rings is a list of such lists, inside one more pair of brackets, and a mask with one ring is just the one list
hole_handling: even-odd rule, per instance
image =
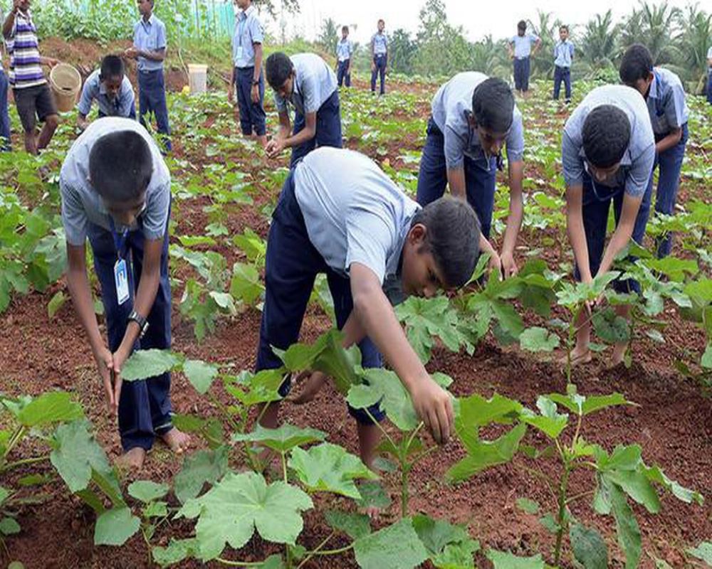
[[444, 287], [467, 284], [480, 256], [480, 222], [464, 200], [444, 196], [429, 203], [413, 217], [411, 227], [426, 228], [425, 246], [443, 275]]

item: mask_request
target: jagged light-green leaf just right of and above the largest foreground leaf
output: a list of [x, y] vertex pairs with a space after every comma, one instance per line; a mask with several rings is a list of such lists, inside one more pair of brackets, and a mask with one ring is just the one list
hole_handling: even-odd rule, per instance
[[359, 457], [330, 442], [309, 450], [295, 448], [288, 464], [310, 491], [334, 492], [353, 499], [361, 497], [355, 480], [378, 478]]

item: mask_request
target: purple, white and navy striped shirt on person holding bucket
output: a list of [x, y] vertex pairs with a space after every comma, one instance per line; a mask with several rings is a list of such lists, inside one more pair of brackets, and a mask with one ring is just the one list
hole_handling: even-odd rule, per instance
[[40, 64], [37, 28], [29, 10], [17, 12], [6, 45], [10, 55], [10, 85], [27, 89], [47, 83]]

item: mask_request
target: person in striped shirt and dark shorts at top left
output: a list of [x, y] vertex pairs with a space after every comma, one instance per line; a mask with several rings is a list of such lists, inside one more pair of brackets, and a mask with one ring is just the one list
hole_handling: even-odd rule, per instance
[[[53, 68], [59, 61], [40, 55], [30, 4], [30, 0], [13, 1], [2, 33], [10, 55], [9, 83], [25, 133], [25, 150], [28, 154], [37, 154], [48, 146], [59, 124], [54, 97], [41, 66]], [[44, 123], [39, 135], [38, 121]]]

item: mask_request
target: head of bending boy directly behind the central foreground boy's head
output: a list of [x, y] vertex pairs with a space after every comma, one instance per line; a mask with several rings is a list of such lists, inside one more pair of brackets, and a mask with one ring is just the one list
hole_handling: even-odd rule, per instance
[[509, 85], [489, 78], [472, 93], [470, 126], [477, 130], [480, 144], [488, 154], [499, 154], [512, 126], [514, 95]]

